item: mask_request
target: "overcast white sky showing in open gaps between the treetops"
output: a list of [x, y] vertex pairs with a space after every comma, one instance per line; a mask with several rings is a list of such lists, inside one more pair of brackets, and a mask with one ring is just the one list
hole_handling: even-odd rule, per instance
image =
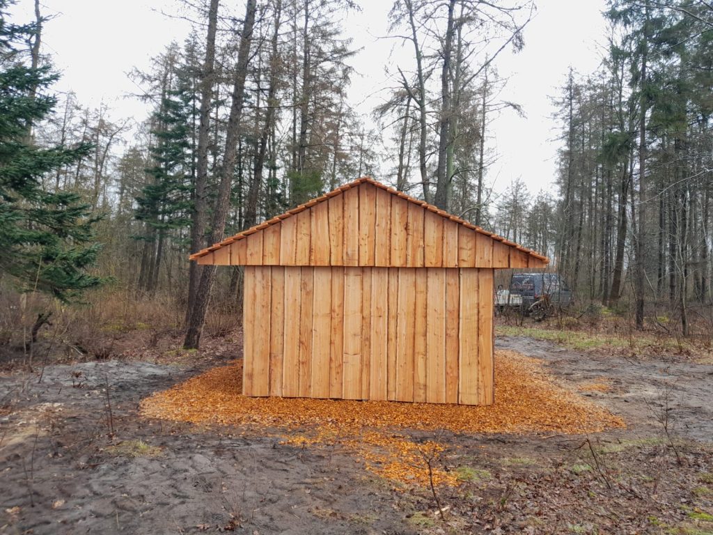
[[[384, 84], [385, 57], [394, 46], [378, 39], [386, 34], [391, 1], [359, 4], [361, 13], [350, 15], [344, 26], [361, 49], [353, 62], [353, 104], [367, 113], [379, 101], [373, 95]], [[31, 19], [32, 5], [32, 0], [19, 0], [14, 11]], [[496, 190], [517, 177], [533, 193], [550, 189], [560, 146], [550, 97], [558, 94], [570, 65], [588, 73], [600, 62], [597, 40], [605, 34], [605, 0], [537, 0], [537, 5], [535, 19], [525, 29], [525, 49], [498, 58], [498, 72], [508, 78], [501, 96], [523, 106], [526, 117], [508, 111], [491, 127], [488, 143], [500, 159], [488, 178]], [[152, 56], [172, 39], [182, 41], [190, 30], [185, 21], [162, 14], [177, 12], [173, 0], [43, 0], [42, 9], [55, 16], [43, 31], [43, 44], [63, 72], [56, 88], [71, 88], [85, 106], [103, 101], [117, 119], [134, 116], [140, 121], [147, 113], [143, 103], [126, 97], [138, 91], [126, 73], [134, 66], [147, 70]]]

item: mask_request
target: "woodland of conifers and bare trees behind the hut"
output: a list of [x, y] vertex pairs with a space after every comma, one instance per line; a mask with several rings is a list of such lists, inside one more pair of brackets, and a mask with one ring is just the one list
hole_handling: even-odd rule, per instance
[[51, 336], [83, 352], [102, 332], [165, 328], [195, 348], [234, 330], [240, 268], [188, 255], [362, 175], [548, 255], [575, 317], [711, 332], [707, 1], [602, 6], [600, 68], [563, 73], [553, 96], [555, 194], [515, 180], [500, 195], [488, 125], [518, 104], [498, 97], [492, 62], [526, 46], [531, 1], [396, 0], [390, 37], [413, 57], [370, 121], [347, 98], [341, 21], [358, 4], [187, 2], [190, 37], [131, 74], [153, 106], [139, 126], [54, 95], [35, 5], [12, 21], [0, 0], [0, 347]]

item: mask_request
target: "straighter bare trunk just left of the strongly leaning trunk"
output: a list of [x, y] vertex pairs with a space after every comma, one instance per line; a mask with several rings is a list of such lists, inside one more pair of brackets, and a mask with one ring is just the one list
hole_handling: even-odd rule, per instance
[[[194, 203], [190, 228], [190, 251], [198, 253], [205, 245], [205, 223], [207, 220], [207, 199], [205, 188], [208, 180], [208, 141], [210, 138], [210, 101], [215, 85], [215, 34], [217, 32], [218, 4], [220, 0], [210, 0], [208, 9], [208, 32], [205, 40], [205, 61], [200, 73], [200, 111], [198, 125], [198, 161], [195, 170]], [[191, 262], [188, 267], [188, 304], [185, 309], [185, 322], [188, 325], [190, 315], [195, 308], [195, 293], [198, 291], [201, 266]]]

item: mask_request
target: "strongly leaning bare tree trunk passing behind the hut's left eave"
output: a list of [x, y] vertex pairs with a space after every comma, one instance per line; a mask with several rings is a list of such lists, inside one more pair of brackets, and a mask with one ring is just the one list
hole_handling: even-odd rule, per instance
[[[237, 148], [237, 141], [240, 136], [240, 119], [242, 118], [245, 78], [247, 77], [247, 63], [250, 58], [255, 11], [255, 0], [247, 0], [247, 5], [245, 6], [245, 22], [242, 26], [240, 49], [237, 53], [237, 64], [235, 66], [230, 116], [228, 116], [227, 131], [225, 134], [225, 153], [223, 156], [220, 186], [215, 203], [215, 211], [213, 213], [212, 232], [210, 235], [210, 240], [213, 243], [219, 242], [223, 238], [225, 220], [227, 218], [228, 208], [230, 208], [230, 185], [232, 183], [233, 172], [235, 171], [235, 149]], [[183, 346], [186, 349], [198, 348], [200, 332], [205, 323], [205, 313], [207, 312], [214, 275], [215, 266], [213, 265], [205, 266], [200, 275], [198, 292], [195, 295], [195, 307], [193, 313], [190, 315], [188, 330], [186, 331], [185, 340], [183, 342]]]

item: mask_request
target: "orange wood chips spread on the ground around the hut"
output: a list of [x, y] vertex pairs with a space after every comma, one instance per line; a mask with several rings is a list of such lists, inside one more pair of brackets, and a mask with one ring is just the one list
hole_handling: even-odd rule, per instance
[[[580, 434], [625, 427], [606, 409], [565, 389], [542, 363], [512, 351], [496, 352], [496, 402], [489, 407], [450, 404], [349, 401], [344, 399], [255, 398], [242, 391], [242, 361], [217, 367], [143, 399], [145, 417], [181, 422], [276, 427], [283, 444], [338, 444], [364, 459], [375, 474], [406, 484], [428, 484], [426, 459], [436, 484], [458, 483], [438, 468], [448, 446], [436, 433]], [[434, 432], [420, 442], [409, 430]]]

